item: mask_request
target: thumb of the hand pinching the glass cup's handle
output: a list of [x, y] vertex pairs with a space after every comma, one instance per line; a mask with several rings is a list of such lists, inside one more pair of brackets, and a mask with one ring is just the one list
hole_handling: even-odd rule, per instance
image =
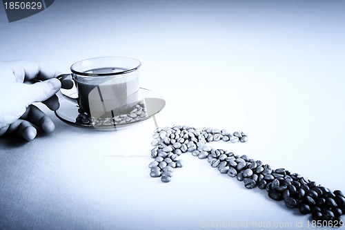
[[26, 101], [28, 106], [34, 102], [46, 101], [46, 99], [55, 95], [55, 93], [57, 93], [61, 88], [61, 82], [56, 78], [30, 85], [23, 85], [23, 99]]

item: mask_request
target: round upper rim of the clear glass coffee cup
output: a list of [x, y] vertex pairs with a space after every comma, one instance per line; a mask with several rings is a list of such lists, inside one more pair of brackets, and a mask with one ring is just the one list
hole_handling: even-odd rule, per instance
[[[124, 71], [117, 72], [117, 73], [82, 73], [82, 72], [79, 72], [79, 71], [73, 69], [73, 66], [81, 63], [82, 61], [90, 61], [92, 59], [109, 59], [109, 58], [128, 59], [128, 60], [132, 60], [132, 61], [137, 61], [138, 64], [134, 68], [130, 68], [129, 70], [124, 70]], [[81, 61], [77, 61], [74, 64], [72, 64], [72, 66], [70, 66], [70, 70], [72, 71], [72, 73], [74, 73], [76, 75], [82, 75], [83, 77], [96, 77], [96, 76], [97, 77], [109, 77], [109, 76], [114, 76], [114, 75], [124, 75], [126, 73], [131, 73], [131, 72], [134, 72], [135, 70], [139, 69], [140, 67], [141, 67], [141, 62], [138, 59], [135, 59], [132, 57], [106, 56], [106, 57], [92, 57], [92, 58], [88, 58], [88, 59], [83, 59]]]

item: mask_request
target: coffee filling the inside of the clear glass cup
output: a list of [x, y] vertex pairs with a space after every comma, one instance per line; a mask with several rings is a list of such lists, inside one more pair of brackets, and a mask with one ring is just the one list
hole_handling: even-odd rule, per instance
[[[97, 68], [86, 73], [119, 73], [123, 68]], [[76, 77], [79, 106], [93, 117], [112, 112], [114, 116], [129, 113], [139, 99], [139, 82], [135, 73], [109, 77]]]

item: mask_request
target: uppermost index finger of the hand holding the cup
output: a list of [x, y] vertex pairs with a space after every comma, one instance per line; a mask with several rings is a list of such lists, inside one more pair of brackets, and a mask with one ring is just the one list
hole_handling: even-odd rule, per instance
[[54, 68], [50, 68], [37, 61], [6, 61], [6, 64], [12, 69], [17, 82], [24, 82], [32, 79], [44, 81], [61, 74]]

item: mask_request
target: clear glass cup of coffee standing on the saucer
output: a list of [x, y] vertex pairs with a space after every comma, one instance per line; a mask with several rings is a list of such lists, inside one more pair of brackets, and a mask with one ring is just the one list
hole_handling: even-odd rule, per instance
[[132, 111], [139, 101], [139, 68], [141, 63], [130, 57], [95, 57], [72, 64], [77, 98], [63, 95], [88, 115], [115, 117]]

